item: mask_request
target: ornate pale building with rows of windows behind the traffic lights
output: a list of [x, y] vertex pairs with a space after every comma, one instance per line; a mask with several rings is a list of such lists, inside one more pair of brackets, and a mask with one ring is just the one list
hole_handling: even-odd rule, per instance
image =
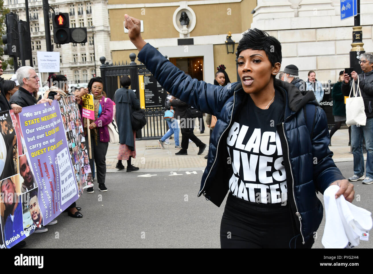
[[[49, 5], [57, 12], [69, 13], [70, 28], [86, 27], [87, 42], [84, 44], [62, 44], [57, 45], [53, 41], [53, 24], [51, 21], [50, 9], [50, 33], [53, 51], [60, 52], [60, 73], [66, 75], [68, 80], [73, 83], [88, 82], [95, 75], [95, 65], [97, 76], [100, 76], [100, 56], [106, 56], [108, 62], [111, 62], [109, 49], [109, 18], [106, 0], [49, 0]], [[11, 12], [17, 13], [19, 19], [26, 21], [25, 1], [5, 0], [4, 5]], [[37, 51], [46, 51], [46, 37], [44, 31], [43, 2], [41, 0], [29, 0], [29, 20], [31, 32], [32, 63], [36, 71]], [[91, 28], [94, 26], [94, 28]], [[93, 46], [94, 35], [94, 46]], [[94, 48], [95, 61], [94, 64]], [[27, 64], [27, 61], [26, 61]], [[9, 72], [8, 72], [9, 73]], [[47, 73], [43, 73], [43, 81]]]

